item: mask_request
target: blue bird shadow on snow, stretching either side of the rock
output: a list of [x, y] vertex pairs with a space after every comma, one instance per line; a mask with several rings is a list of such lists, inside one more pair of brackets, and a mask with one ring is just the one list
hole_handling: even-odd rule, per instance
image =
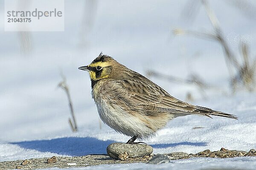
[[[116, 141], [102, 141], [93, 137], [64, 137], [49, 140], [35, 140], [12, 142], [25, 149], [34, 149], [40, 152], [51, 152], [68, 156], [84, 156], [89, 154], [107, 153], [106, 148], [109, 144]], [[175, 147], [178, 145], [206, 146], [206, 142], [180, 142], [169, 144], [150, 144], [153, 148]]]

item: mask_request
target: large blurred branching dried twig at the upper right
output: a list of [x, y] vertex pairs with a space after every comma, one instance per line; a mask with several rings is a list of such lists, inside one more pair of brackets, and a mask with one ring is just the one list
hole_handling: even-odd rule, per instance
[[[247, 90], [252, 91], [255, 86], [255, 72], [256, 72], [256, 59], [253, 62], [252, 65], [250, 65], [249, 57], [248, 57], [248, 48], [247, 45], [242, 45], [242, 51], [243, 51], [243, 63], [240, 64], [231, 50], [231, 48], [228, 46], [227, 41], [225, 40], [224, 36], [222, 35], [221, 27], [218, 22], [217, 17], [215, 16], [212, 9], [209, 7], [207, 0], [201, 0], [205, 11], [207, 13], [207, 16], [212, 23], [212, 27], [214, 28], [214, 33], [205, 33], [205, 32], [199, 32], [199, 31], [184, 31], [182, 29], [174, 29], [173, 32], [176, 35], [180, 34], [189, 34], [195, 37], [201, 37], [206, 38], [210, 40], [216, 40], [221, 44], [221, 46], [224, 49], [224, 56], [227, 68], [230, 73], [231, 82], [233, 85], [233, 92], [236, 91], [236, 86], [238, 82], [243, 82], [243, 85]], [[232, 67], [236, 69], [238, 75], [234, 76]]]

